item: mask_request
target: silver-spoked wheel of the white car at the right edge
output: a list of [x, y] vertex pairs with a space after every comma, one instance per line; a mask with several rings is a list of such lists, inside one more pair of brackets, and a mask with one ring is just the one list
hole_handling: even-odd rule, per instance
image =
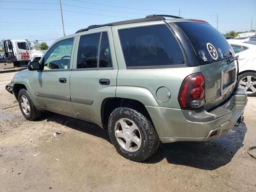
[[246, 90], [248, 96], [256, 96], [256, 73], [246, 72], [239, 76], [239, 88]]

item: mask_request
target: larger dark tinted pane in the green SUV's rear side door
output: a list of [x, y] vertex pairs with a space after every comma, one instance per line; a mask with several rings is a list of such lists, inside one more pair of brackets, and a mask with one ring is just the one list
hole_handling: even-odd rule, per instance
[[76, 68], [97, 68], [100, 33], [80, 37]]

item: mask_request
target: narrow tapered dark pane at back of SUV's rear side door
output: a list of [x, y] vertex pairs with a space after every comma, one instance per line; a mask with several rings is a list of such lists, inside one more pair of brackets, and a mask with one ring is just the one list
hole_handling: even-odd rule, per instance
[[108, 43], [108, 34], [106, 32], [102, 33], [100, 41], [99, 67], [112, 67], [112, 60]]

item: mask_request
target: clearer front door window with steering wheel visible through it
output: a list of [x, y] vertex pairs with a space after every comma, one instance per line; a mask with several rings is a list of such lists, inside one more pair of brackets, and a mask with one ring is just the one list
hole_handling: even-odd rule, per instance
[[70, 57], [74, 39], [56, 43], [44, 57], [44, 70], [70, 69]]

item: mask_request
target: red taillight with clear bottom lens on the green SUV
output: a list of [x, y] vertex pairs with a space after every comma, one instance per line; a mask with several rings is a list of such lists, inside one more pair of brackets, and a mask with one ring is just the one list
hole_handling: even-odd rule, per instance
[[204, 105], [204, 76], [201, 73], [185, 78], [178, 97], [182, 109], [200, 108]]

